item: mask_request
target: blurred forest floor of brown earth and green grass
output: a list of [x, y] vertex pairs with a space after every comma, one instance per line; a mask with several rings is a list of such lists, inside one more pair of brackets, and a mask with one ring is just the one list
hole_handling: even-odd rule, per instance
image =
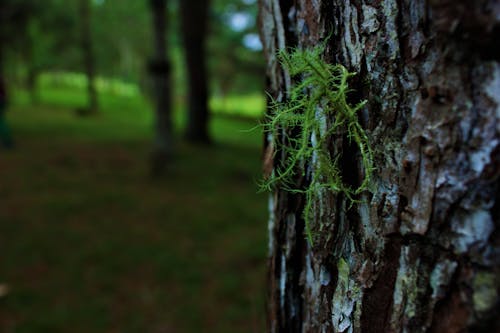
[[152, 180], [143, 101], [78, 118], [46, 94], [11, 107], [0, 151], [0, 332], [265, 331], [257, 120], [215, 117], [215, 145], [180, 143]]

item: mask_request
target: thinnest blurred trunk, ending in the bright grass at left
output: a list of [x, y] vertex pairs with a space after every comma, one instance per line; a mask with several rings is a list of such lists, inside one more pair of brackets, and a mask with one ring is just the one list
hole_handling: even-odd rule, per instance
[[95, 86], [95, 60], [92, 43], [92, 0], [80, 0], [81, 45], [84, 59], [84, 69], [87, 75], [88, 106], [83, 113], [97, 112], [97, 90]]

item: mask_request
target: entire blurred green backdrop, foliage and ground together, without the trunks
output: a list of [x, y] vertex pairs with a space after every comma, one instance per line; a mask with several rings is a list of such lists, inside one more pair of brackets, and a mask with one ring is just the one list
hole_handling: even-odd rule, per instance
[[213, 144], [197, 146], [182, 140], [185, 64], [178, 4], [167, 3], [176, 135], [160, 178], [149, 174], [148, 1], [92, 1], [89, 117], [75, 112], [88, 101], [78, 1], [0, 5], [11, 10], [0, 53], [15, 142], [0, 149], [0, 332], [265, 331], [257, 5], [211, 2]]

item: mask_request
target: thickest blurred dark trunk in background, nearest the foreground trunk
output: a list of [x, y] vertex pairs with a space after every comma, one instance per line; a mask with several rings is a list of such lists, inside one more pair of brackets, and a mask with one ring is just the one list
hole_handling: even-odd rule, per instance
[[188, 123], [186, 137], [209, 143], [208, 78], [205, 39], [208, 28], [208, 0], [180, 1], [182, 37], [188, 73]]

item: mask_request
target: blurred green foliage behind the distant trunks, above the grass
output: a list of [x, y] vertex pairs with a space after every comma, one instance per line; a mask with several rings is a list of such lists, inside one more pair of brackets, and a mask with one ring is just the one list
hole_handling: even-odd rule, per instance
[[[8, 62], [7, 75], [16, 84], [28, 87], [34, 100], [40, 75], [54, 78], [56, 72], [88, 72], [88, 61], [81, 60], [84, 55], [80, 42], [81, 32], [85, 30], [80, 23], [85, 16], [81, 15], [81, 4], [87, 2], [91, 3], [90, 30], [95, 46], [84, 47], [84, 53], [91, 50], [94, 54], [94, 64], [90, 67], [95, 67], [96, 85], [102, 86], [99, 77], [119, 79], [149, 94], [145, 59], [152, 54], [153, 46], [152, 37], [148, 37], [152, 31], [147, 1], [48, 0], [41, 5], [34, 0], [6, 0], [1, 5], [0, 25], [3, 27], [2, 43], [6, 45], [2, 53]], [[168, 4], [168, 20], [172, 27], [167, 39], [176, 82], [173, 95], [182, 104], [188, 89], [178, 7], [177, 1]], [[245, 103], [235, 107], [233, 97], [255, 96], [263, 87], [264, 65], [256, 31], [256, 1], [213, 0], [206, 10], [209, 20], [209, 28], [205, 31], [207, 90], [211, 92], [211, 106], [215, 112], [246, 112], [242, 107]], [[61, 76], [59, 83], [65, 81]], [[260, 102], [262, 105], [262, 100]], [[241, 110], [236, 110], [238, 108]]]

